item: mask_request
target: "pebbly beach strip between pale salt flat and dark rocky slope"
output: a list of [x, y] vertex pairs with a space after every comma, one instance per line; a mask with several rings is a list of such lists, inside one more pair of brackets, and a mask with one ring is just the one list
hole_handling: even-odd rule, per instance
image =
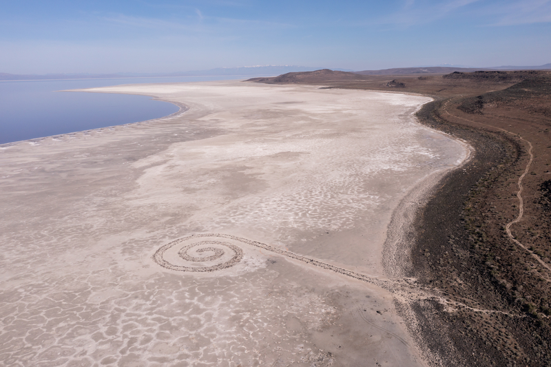
[[[427, 105], [437, 102], [433, 99], [417, 110], [415, 114], [417, 123], [460, 142], [466, 149], [466, 156], [459, 165], [430, 174], [406, 193], [392, 213], [382, 249], [382, 261], [386, 275], [391, 279], [406, 280], [409, 284], [415, 284], [414, 287], [417, 288], [417, 291], [430, 287], [430, 284], [419, 279], [421, 273], [419, 269], [416, 269], [413, 261], [415, 253], [419, 252], [418, 248], [424, 246], [422, 243], [424, 239], [420, 238], [419, 230], [427, 224], [424, 220], [426, 208], [439, 195], [438, 191], [441, 191], [442, 187], [454, 182], [453, 176], [458, 171], [464, 170], [464, 167], [468, 167], [477, 158], [476, 148], [464, 139], [464, 136], [457, 136], [453, 131], [437, 129], [418, 116], [419, 112]], [[428, 291], [428, 293], [422, 291], [417, 297], [412, 296], [411, 292], [409, 293], [410, 295], [395, 295], [394, 303], [398, 315], [404, 320], [408, 333], [415, 340], [424, 361], [428, 363], [428, 366], [459, 366], [446, 364], [446, 361], [462, 357], [454, 353], [453, 349], [448, 348], [450, 343], [444, 342], [447, 337], [446, 333], [440, 332], [440, 337], [435, 337], [438, 331], [446, 328], [446, 325], [444, 323], [437, 326], [430, 324], [429, 319], [426, 319], [426, 306], [419, 306], [419, 303], [429, 302], [433, 307], [441, 309], [447, 302], [446, 295], [442, 295], [437, 290]], [[427, 331], [427, 328], [430, 328], [430, 331]], [[438, 345], [437, 348], [435, 348], [435, 343]]]

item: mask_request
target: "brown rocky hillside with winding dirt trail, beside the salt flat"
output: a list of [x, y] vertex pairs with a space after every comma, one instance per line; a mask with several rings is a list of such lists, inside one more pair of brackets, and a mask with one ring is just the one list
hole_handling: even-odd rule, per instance
[[[551, 72], [258, 78], [432, 96], [417, 113], [466, 140], [472, 159], [441, 181], [411, 231], [417, 342], [445, 366], [551, 366]], [[453, 306], [453, 302], [462, 306]]]

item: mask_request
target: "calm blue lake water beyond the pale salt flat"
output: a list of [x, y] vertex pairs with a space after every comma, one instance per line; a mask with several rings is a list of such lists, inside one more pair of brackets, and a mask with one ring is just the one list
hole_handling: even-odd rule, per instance
[[1, 81], [0, 144], [100, 127], [136, 123], [174, 114], [178, 107], [148, 96], [56, 92], [136, 83], [175, 83], [236, 79], [238, 76], [180, 78]]

